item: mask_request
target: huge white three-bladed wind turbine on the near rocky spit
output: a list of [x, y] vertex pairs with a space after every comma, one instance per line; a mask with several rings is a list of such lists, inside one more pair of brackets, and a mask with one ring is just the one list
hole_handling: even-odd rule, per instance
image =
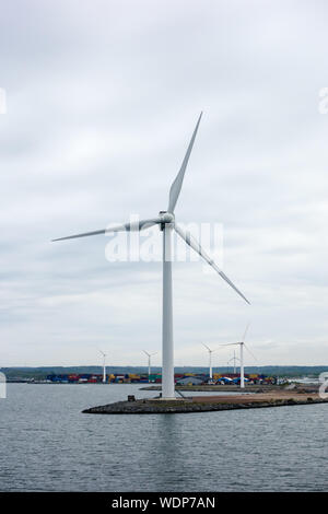
[[174, 394], [174, 358], [173, 358], [173, 307], [172, 307], [172, 233], [173, 230], [197, 252], [214, 270], [233, 288], [247, 303], [248, 300], [231, 282], [231, 280], [221, 271], [215, 262], [201, 248], [200, 244], [191, 236], [188, 231], [184, 231], [175, 221], [175, 207], [183, 187], [184, 176], [192, 150], [194, 141], [198, 131], [202, 113], [200, 114], [195, 127], [191, 140], [189, 142], [186, 155], [180, 170], [169, 189], [168, 206], [166, 211], [160, 211], [156, 218], [140, 220], [134, 223], [125, 223], [110, 229], [102, 229], [93, 232], [60, 237], [52, 241], [72, 240], [77, 237], [87, 237], [92, 235], [109, 234], [119, 231], [141, 231], [152, 225], [159, 225], [163, 232], [163, 319], [162, 319], [162, 398], [173, 399]]

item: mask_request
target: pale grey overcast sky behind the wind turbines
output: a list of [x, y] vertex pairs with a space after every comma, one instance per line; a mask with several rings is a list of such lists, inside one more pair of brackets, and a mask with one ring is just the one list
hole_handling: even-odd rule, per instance
[[50, 240], [165, 209], [200, 110], [176, 218], [223, 224], [251, 306], [175, 264], [175, 363], [250, 322], [246, 365], [327, 365], [327, 20], [325, 0], [1, 1], [0, 365], [161, 350], [161, 265]]

